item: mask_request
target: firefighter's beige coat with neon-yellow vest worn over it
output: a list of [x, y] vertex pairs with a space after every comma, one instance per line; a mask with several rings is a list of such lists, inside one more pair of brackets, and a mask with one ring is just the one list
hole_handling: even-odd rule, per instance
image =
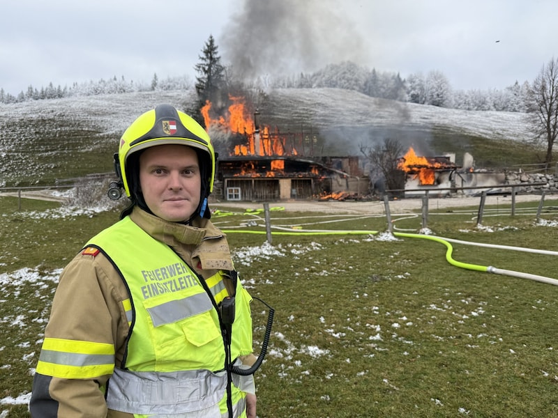
[[[68, 264], [33, 380], [33, 417], [227, 416], [217, 305], [236, 293], [230, 358], [251, 364], [250, 295], [234, 280], [223, 233], [200, 222], [135, 208]], [[231, 390], [243, 417], [251, 376], [234, 376]]]

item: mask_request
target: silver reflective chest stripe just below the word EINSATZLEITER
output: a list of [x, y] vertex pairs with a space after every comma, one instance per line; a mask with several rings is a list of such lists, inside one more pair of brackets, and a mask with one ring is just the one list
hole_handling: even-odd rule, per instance
[[202, 314], [213, 308], [206, 293], [197, 293], [179, 300], [171, 300], [156, 307], [147, 308], [153, 326], [172, 324], [177, 320]]

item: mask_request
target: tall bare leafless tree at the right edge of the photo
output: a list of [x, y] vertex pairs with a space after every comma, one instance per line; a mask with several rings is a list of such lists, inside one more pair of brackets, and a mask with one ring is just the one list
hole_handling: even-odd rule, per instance
[[543, 65], [527, 95], [527, 114], [535, 139], [546, 141], [545, 162], [552, 161], [552, 147], [558, 136], [558, 59]]

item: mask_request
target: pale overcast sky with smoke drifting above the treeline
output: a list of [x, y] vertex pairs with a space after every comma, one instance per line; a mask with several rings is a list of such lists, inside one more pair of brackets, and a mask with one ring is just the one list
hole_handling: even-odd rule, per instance
[[[455, 89], [531, 82], [558, 56], [556, 0], [3, 1], [0, 88], [187, 75], [210, 35], [244, 75], [354, 61]], [[499, 42], [497, 42], [499, 41]]]

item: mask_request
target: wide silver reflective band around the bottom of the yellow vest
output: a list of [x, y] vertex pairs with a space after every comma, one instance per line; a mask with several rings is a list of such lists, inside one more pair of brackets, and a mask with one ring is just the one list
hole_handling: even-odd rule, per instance
[[[225, 372], [157, 373], [116, 368], [108, 384], [107, 407], [130, 414], [215, 418], [221, 416], [219, 401], [225, 396], [226, 387]], [[235, 416], [240, 414], [235, 412]]]

